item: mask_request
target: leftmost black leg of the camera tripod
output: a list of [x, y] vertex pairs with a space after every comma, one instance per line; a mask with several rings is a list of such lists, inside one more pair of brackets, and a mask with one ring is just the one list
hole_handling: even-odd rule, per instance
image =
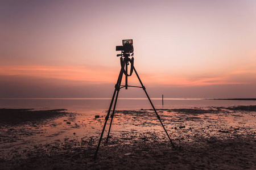
[[[97, 157], [98, 149], [100, 148], [100, 145], [101, 145], [101, 139], [102, 139], [102, 136], [103, 136], [103, 134], [104, 134], [104, 130], [105, 130], [105, 128], [106, 128], [106, 123], [107, 123], [107, 121], [108, 121], [108, 119], [109, 119], [109, 114], [110, 114], [110, 111], [111, 111], [111, 108], [112, 108], [112, 105], [113, 105], [113, 101], [114, 101], [114, 98], [115, 98], [115, 94], [116, 94], [117, 90], [119, 89], [118, 84], [121, 84], [121, 81], [122, 81], [122, 75], [123, 75], [123, 69], [121, 69], [121, 71], [120, 71], [120, 73], [119, 73], [119, 76], [118, 76], [117, 84], [115, 84], [114, 94], [113, 94], [113, 97], [112, 97], [112, 100], [111, 100], [111, 103], [110, 103], [110, 106], [109, 106], [108, 114], [107, 114], [107, 116], [106, 116], [106, 118], [105, 118], [106, 121], [105, 121], [105, 124], [104, 124], [103, 129], [102, 129], [102, 132], [101, 132], [100, 140], [98, 141], [98, 146], [97, 146], [97, 150], [96, 150], [95, 155], [94, 155], [94, 159], [96, 159], [96, 157]], [[116, 99], [117, 99], [117, 97], [116, 97]], [[116, 102], [115, 102], [115, 103], [116, 103]]]

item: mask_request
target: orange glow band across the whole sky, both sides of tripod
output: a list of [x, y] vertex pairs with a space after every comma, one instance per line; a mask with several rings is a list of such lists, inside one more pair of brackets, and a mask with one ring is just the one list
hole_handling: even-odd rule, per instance
[[[117, 81], [119, 69], [117, 67], [105, 67], [98, 69], [99, 66], [1, 66], [0, 75], [20, 75], [34, 76], [38, 78], [63, 79], [73, 84], [113, 84]], [[253, 70], [234, 70], [224, 75], [212, 77], [193, 78], [189, 76], [175, 76], [168, 74], [139, 74], [143, 83], [148, 85], [163, 84], [168, 86], [208, 86], [215, 84], [249, 84], [250, 82], [241, 82], [233, 80], [234, 76], [238, 77], [247, 73], [255, 73]], [[152, 82], [154, 80], [154, 82]], [[129, 78], [129, 83], [137, 83], [135, 73]]]

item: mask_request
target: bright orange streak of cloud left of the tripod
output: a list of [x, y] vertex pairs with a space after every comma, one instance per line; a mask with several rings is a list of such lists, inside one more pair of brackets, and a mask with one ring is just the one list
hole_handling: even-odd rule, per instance
[[67, 80], [75, 84], [102, 84], [115, 82], [114, 78], [118, 73], [113, 67], [106, 66], [46, 66], [46, 65], [26, 65], [26, 66], [1, 66], [0, 75], [21, 75], [38, 78], [50, 78]]

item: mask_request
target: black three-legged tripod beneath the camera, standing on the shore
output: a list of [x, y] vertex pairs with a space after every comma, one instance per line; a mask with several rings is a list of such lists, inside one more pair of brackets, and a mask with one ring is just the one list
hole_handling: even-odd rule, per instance
[[[139, 78], [139, 75], [138, 75], [138, 73], [137, 73], [137, 71], [134, 67], [134, 64], [133, 64], [134, 63], [134, 58], [133, 57], [129, 58], [130, 54], [126, 54], [126, 53], [118, 54], [118, 56], [121, 56], [120, 57], [121, 70], [120, 70], [120, 73], [119, 73], [119, 76], [118, 76], [118, 79], [117, 79], [117, 84], [115, 84], [114, 94], [113, 94], [113, 97], [112, 97], [112, 100], [111, 100], [111, 103], [110, 103], [110, 106], [109, 106], [108, 114], [105, 117], [105, 124], [104, 124], [103, 129], [102, 129], [100, 141], [98, 141], [98, 146], [97, 146], [96, 153], [94, 155], [94, 159], [96, 159], [96, 157], [97, 157], [98, 149], [100, 148], [100, 145], [101, 145], [101, 139], [102, 139], [102, 136], [104, 134], [106, 124], [109, 120], [109, 114], [110, 114], [110, 111], [112, 109], [112, 105], [113, 105], [113, 102], [114, 102], [114, 107], [113, 107], [113, 111], [112, 111], [112, 115], [111, 115], [111, 121], [110, 121], [110, 125], [109, 125], [108, 137], [106, 138], [106, 143], [108, 143], [109, 133], [110, 133], [110, 129], [111, 129], [111, 125], [112, 125], [112, 122], [113, 122], [114, 113], [115, 113], [115, 106], [117, 105], [119, 90], [123, 87], [125, 87], [125, 89], [127, 89], [128, 87], [138, 87], [138, 88], [142, 88], [144, 90], [145, 94], [147, 95], [148, 100], [150, 101], [150, 104], [151, 104], [152, 108], [155, 111], [156, 116], [158, 117], [158, 120], [160, 121], [161, 125], [163, 126], [164, 131], [166, 131], [166, 128], [164, 128], [164, 125], [163, 125], [162, 121], [160, 120], [160, 117], [159, 117], [158, 113], [156, 112], [156, 109], [155, 109], [154, 105], [152, 104], [152, 101], [150, 100], [150, 97], [147, 94], [146, 88], [143, 86], [143, 83], [142, 83], [141, 79]], [[133, 54], [132, 54], [132, 56], [133, 56]], [[127, 71], [127, 69], [128, 69], [127, 65], [129, 65], [129, 62], [131, 63], [130, 74], [128, 74], [128, 71]], [[128, 76], [133, 74], [133, 71], [137, 75], [137, 78], [139, 79], [139, 82], [141, 83], [141, 87], [139, 87], [139, 86], [128, 86], [128, 83], [127, 83], [128, 82]], [[125, 85], [121, 86], [123, 74], [125, 74]], [[114, 99], [115, 99], [115, 101], [114, 101]], [[172, 143], [172, 140], [171, 140], [170, 136], [168, 135], [167, 131], [166, 131], [166, 134], [167, 134], [167, 137], [170, 139], [170, 142], [171, 142], [172, 146], [174, 147], [174, 143]]]

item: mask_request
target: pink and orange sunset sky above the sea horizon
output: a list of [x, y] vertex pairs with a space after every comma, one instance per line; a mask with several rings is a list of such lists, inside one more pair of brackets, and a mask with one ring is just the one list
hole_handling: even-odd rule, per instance
[[150, 97], [256, 97], [254, 0], [0, 0], [0, 98], [112, 97], [123, 39]]

